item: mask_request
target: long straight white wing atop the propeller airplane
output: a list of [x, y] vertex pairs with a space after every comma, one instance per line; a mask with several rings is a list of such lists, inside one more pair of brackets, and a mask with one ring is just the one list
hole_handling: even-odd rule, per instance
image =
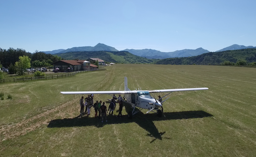
[[[150, 93], [157, 92], [177, 92], [177, 91], [195, 91], [195, 90], [207, 90], [208, 88], [183, 88], [183, 89], [160, 89], [160, 90], [148, 90]], [[129, 94], [137, 93], [138, 91], [80, 91], [80, 92], [61, 92], [62, 94]]]

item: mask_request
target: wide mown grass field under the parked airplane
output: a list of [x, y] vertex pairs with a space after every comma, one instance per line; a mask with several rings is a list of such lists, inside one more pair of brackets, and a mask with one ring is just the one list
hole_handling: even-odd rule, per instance
[[[0, 156], [256, 156], [256, 68], [117, 64], [106, 69], [0, 84], [6, 97], [0, 100]], [[124, 76], [131, 90], [209, 90], [171, 93], [163, 105], [166, 118], [142, 110], [130, 120], [126, 108], [123, 118], [108, 116], [103, 124], [93, 109], [78, 118], [82, 95], [59, 93], [123, 90]], [[95, 95], [94, 101], [107, 98]]]

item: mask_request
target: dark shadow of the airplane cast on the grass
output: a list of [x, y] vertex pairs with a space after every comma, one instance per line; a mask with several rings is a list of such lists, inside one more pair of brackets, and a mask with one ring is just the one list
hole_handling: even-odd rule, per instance
[[[124, 105], [126, 108], [126, 112], [130, 110], [129, 105]], [[64, 118], [64, 119], [55, 119], [50, 121], [47, 127], [74, 127], [74, 126], [96, 126], [103, 127], [107, 124], [125, 124], [125, 123], [137, 123], [140, 127], [149, 132], [147, 135], [150, 137], [154, 137], [154, 139], [150, 142], [154, 142], [156, 139], [162, 140], [162, 135], [165, 132], [159, 132], [155, 127], [153, 121], [166, 121], [172, 119], [190, 119], [190, 118], [203, 118], [203, 117], [211, 117], [213, 115], [205, 112], [205, 111], [181, 111], [181, 112], [167, 112], [164, 113], [166, 117], [158, 117], [156, 114], [143, 114], [139, 111], [136, 115], [134, 115], [133, 119], [128, 119], [127, 115], [124, 115], [122, 118], [117, 118], [112, 115], [107, 115], [108, 122], [101, 123], [101, 120], [93, 117], [81, 117], [80, 115], [75, 118]], [[168, 138], [167, 138], [168, 139]]]

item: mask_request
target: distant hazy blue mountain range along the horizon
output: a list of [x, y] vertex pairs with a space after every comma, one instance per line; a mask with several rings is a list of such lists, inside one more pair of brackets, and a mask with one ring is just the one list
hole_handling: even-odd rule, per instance
[[[226, 51], [226, 50], [238, 50], [238, 49], [247, 49], [247, 48], [256, 48], [253, 46], [243, 46], [243, 45], [238, 45], [238, 44], [233, 44], [232, 46], [223, 48], [221, 50], [218, 50], [216, 52], [220, 51]], [[113, 47], [107, 46], [102, 43], [98, 43], [96, 46], [91, 47], [91, 46], [85, 46], [85, 47], [73, 47], [70, 49], [58, 49], [58, 50], [53, 50], [53, 51], [43, 51], [45, 53], [50, 53], [50, 54], [56, 54], [56, 53], [66, 53], [66, 52], [80, 52], [80, 51], [119, 51]], [[198, 56], [203, 53], [209, 52], [208, 50], [205, 50], [203, 48], [198, 48], [195, 50], [192, 49], [184, 49], [184, 50], [177, 50], [174, 52], [161, 52], [158, 50], [152, 50], [152, 49], [142, 49], [142, 50], [135, 50], [135, 49], [125, 49], [121, 51], [128, 51], [132, 53], [133, 55], [140, 56], [140, 57], [145, 57], [148, 59], [165, 59], [165, 58], [175, 58], [175, 57], [191, 57], [191, 56]]]

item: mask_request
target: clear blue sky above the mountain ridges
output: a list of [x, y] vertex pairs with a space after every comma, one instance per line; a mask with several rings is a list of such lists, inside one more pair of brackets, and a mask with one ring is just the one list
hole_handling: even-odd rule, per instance
[[256, 46], [256, 0], [1, 0], [0, 48]]

